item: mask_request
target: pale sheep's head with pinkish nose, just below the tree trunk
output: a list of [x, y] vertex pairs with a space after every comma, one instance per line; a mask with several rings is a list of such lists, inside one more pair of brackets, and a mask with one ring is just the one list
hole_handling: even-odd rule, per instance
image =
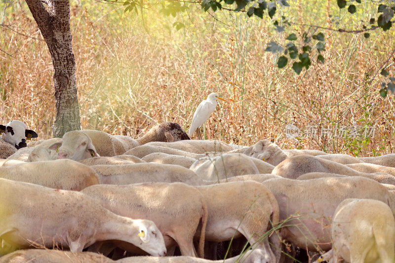
[[82, 131], [66, 132], [61, 141], [52, 144], [48, 148], [58, 153], [58, 159], [67, 158], [79, 161], [99, 156], [92, 144], [92, 140]]

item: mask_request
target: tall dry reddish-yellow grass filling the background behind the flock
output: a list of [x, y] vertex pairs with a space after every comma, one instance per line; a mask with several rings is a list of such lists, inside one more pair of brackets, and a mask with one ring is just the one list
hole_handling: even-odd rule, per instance
[[[296, 24], [336, 28], [336, 2], [296, 1], [289, 14]], [[282, 148], [322, 149], [371, 156], [392, 152], [394, 97], [380, 97], [380, 79], [368, 84], [395, 46], [394, 29], [361, 34], [324, 31], [325, 64], [313, 63], [295, 75], [277, 69], [265, 52], [270, 40], [283, 41], [267, 19], [244, 14], [209, 14], [192, 8], [178, 17], [185, 28], [171, 30], [172, 17], [123, 14], [123, 8], [99, 2], [73, 3], [72, 35], [77, 63], [81, 125], [112, 134], [141, 136], [152, 125], [175, 121], [188, 129], [198, 103], [212, 91], [235, 103], [221, 102], [205, 126], [205, 136], [250, 145], [269, 139]], [[313, 11], [313, 12], [312, 12]], [[288, 12], [284, 10], [284, 12]], [[313, 15], [312, 15], [313, 13]], [[356, 18], [340, 14], [340, 27], [361, 27], [369, 9]], [[4, 24], [41, 38], [24, 2], [7, 9]], [[297, 15], [295, 15], [297, 14]], [[302, 20], [304, 18], [304, 20]], [[354, 19], [354, 20], [353, 20]], [[170, 26], [170, 27], [169, 27]], [[170, 28], [170, 30], [169, 30]], [[294, 30], [312, 33], [307, 26]], [[49, 138], [54, 115], [52, 65], [45, 42], [0, 27], [0, 119], [25, 121]], [[282, 40], [281, 40], [282, 39]], [[315, 43], [313, 43], [315, 44]], [[314, 59], [315, 61], [315, 59]], [[395, 75], [395, 59], [390, 75]], [[288, 140], [286, 123], [320, 129], [376, 125], [374, 137], [322, 136]]]

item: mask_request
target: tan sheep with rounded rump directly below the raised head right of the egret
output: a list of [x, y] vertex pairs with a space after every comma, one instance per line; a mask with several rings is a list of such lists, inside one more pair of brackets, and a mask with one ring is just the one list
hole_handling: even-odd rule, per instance
[[389, 174], [361, 173], [346, 165], [311, 155], [297, 155], [285, 159], [272, 171], [273, 174], [290, 179], [296, 179], [303, 174], [311, 172], [334, 173], [347, 176], [363, 176], [376, 180], [380, 183], [395, 185], [394, 176]]

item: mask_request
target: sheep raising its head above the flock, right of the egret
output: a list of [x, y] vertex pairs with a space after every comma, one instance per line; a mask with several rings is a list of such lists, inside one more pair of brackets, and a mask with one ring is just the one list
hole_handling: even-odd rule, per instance
[[251, 147], [232, 150], [228, 153], [232, 152], [244, 153], [247, 156], [264, 160], [265, 162], [275, 166], [288, 158], [288, 156], [276, 144], [271, 143], [268, 140], [261, 140]]

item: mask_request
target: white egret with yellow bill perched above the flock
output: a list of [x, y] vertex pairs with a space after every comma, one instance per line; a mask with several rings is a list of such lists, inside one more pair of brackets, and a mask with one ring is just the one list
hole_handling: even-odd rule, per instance
[[[191, 127], [189, 128], [188, 132], [189, 137], [191, 137], [196, 129], [203, 125], [208, 117], [210, 117], [211, 113], [214, 112], [215, 107], [217, 106], [217, 100], [226, 101], [225, 99], [218, 96], [218, 94], [212, 92], [210, 95], [208, 95], [206, 100], [200, 102], [194, 113], [194, 117], [192, 118]], [[199, 135], [199, 139], [201, 139], [200, 131], [197, 130], [197, 133]]]

